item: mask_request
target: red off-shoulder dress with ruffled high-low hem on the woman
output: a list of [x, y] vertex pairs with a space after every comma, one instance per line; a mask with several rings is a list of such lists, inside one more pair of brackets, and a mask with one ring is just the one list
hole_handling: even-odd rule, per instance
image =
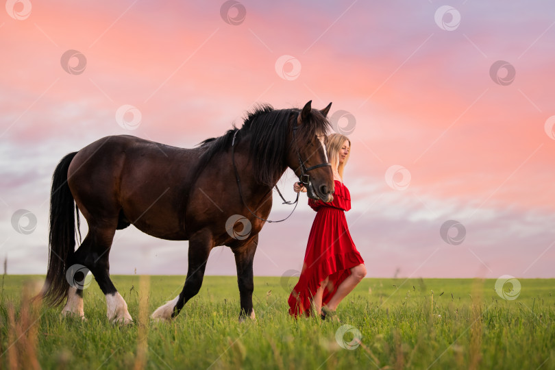
[[345, 211], [351, 209], [351, 195], [347, 186], [335, 180], [334, 200], [324, 203], [308, 199], [308, 205], [317, 211], [304, 255], [299, 282], [289, 295], [289, 314], [310, 316], [310, 299], [320, 282], [330, 277], [323, 291], [322, 305], [328, 304], [337, 287], [347, 276], [351, 267], [364, 263], [349, 234]]

